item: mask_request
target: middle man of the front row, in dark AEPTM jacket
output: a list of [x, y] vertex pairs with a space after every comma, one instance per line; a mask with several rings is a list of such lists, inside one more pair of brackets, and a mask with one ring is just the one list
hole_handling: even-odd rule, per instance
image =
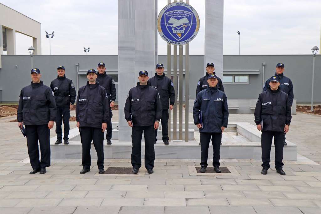
[[145, 138], [145, 167], [152, 174], [155, 160], [154, 137], [162, 114], [162, 104], [156, 89], [148, 81], [148, 72], [140, 71], [137, 86], [129, 90], [125, 104], [125, 118], [132, 127], [132, 166], [137, 174], [142, 166], [142, 136]]

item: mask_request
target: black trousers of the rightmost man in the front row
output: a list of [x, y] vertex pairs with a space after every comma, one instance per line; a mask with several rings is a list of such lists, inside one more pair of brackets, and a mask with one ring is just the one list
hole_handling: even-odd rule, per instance
[[261, 135], [261, 146], [262, 146], [262, 166], [264, 168], [270, 168], [270, 153], [272, 146], [272, 137], [274, 137], [274, 148], [275, 148], [275, 168], [283, 167], [283, 147], [284, 147], [284, 132], [262, 132]]

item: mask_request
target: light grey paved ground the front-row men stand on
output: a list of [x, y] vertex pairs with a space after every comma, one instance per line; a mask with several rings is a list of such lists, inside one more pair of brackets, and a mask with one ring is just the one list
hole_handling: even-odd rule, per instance
[[[321, 165], [286, 164], [286, 176], [273, 168], [261, 175], [259, 161], [224, 159], [221, 164], [233, 166], [240, 176], [197, 176], [188, 171], [199, 165], [197, 159], [157, 159], [152, 175], [144, 175], [142, 167], [143, 176], [99, 176], [94, 160], [91, 171], [80, 175], [77, 159], [52, 160], [45, 175], [29, 175], [26, 141], [17, 123], [6, 122], [11, 119], [0, 118], [1, 214], [321, 213]], [[253, 115], [231, 114], [229, 122], [253, 120]], [[299, 113], [286, 135], [299, 154], [318, 164], [320, 127], [320, 116]], [[129, 159], [106, 159], [105, 166], [131, 165]]]

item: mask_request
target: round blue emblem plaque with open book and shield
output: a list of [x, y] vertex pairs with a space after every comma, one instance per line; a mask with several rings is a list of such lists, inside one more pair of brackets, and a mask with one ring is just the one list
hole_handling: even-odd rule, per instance
[[196, 10], [185, 2], [172, 2], [158, 15], [158, 33], [172, 45], [186, 45], [196, 37], [199, 28]]

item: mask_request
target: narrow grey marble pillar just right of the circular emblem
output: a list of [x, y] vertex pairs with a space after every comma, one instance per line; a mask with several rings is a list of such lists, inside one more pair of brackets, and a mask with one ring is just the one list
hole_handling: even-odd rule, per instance
[[205, 0], [205, 51], [206, 63], [215, 65], [215, 73], [223, 77], [223, 0]]

